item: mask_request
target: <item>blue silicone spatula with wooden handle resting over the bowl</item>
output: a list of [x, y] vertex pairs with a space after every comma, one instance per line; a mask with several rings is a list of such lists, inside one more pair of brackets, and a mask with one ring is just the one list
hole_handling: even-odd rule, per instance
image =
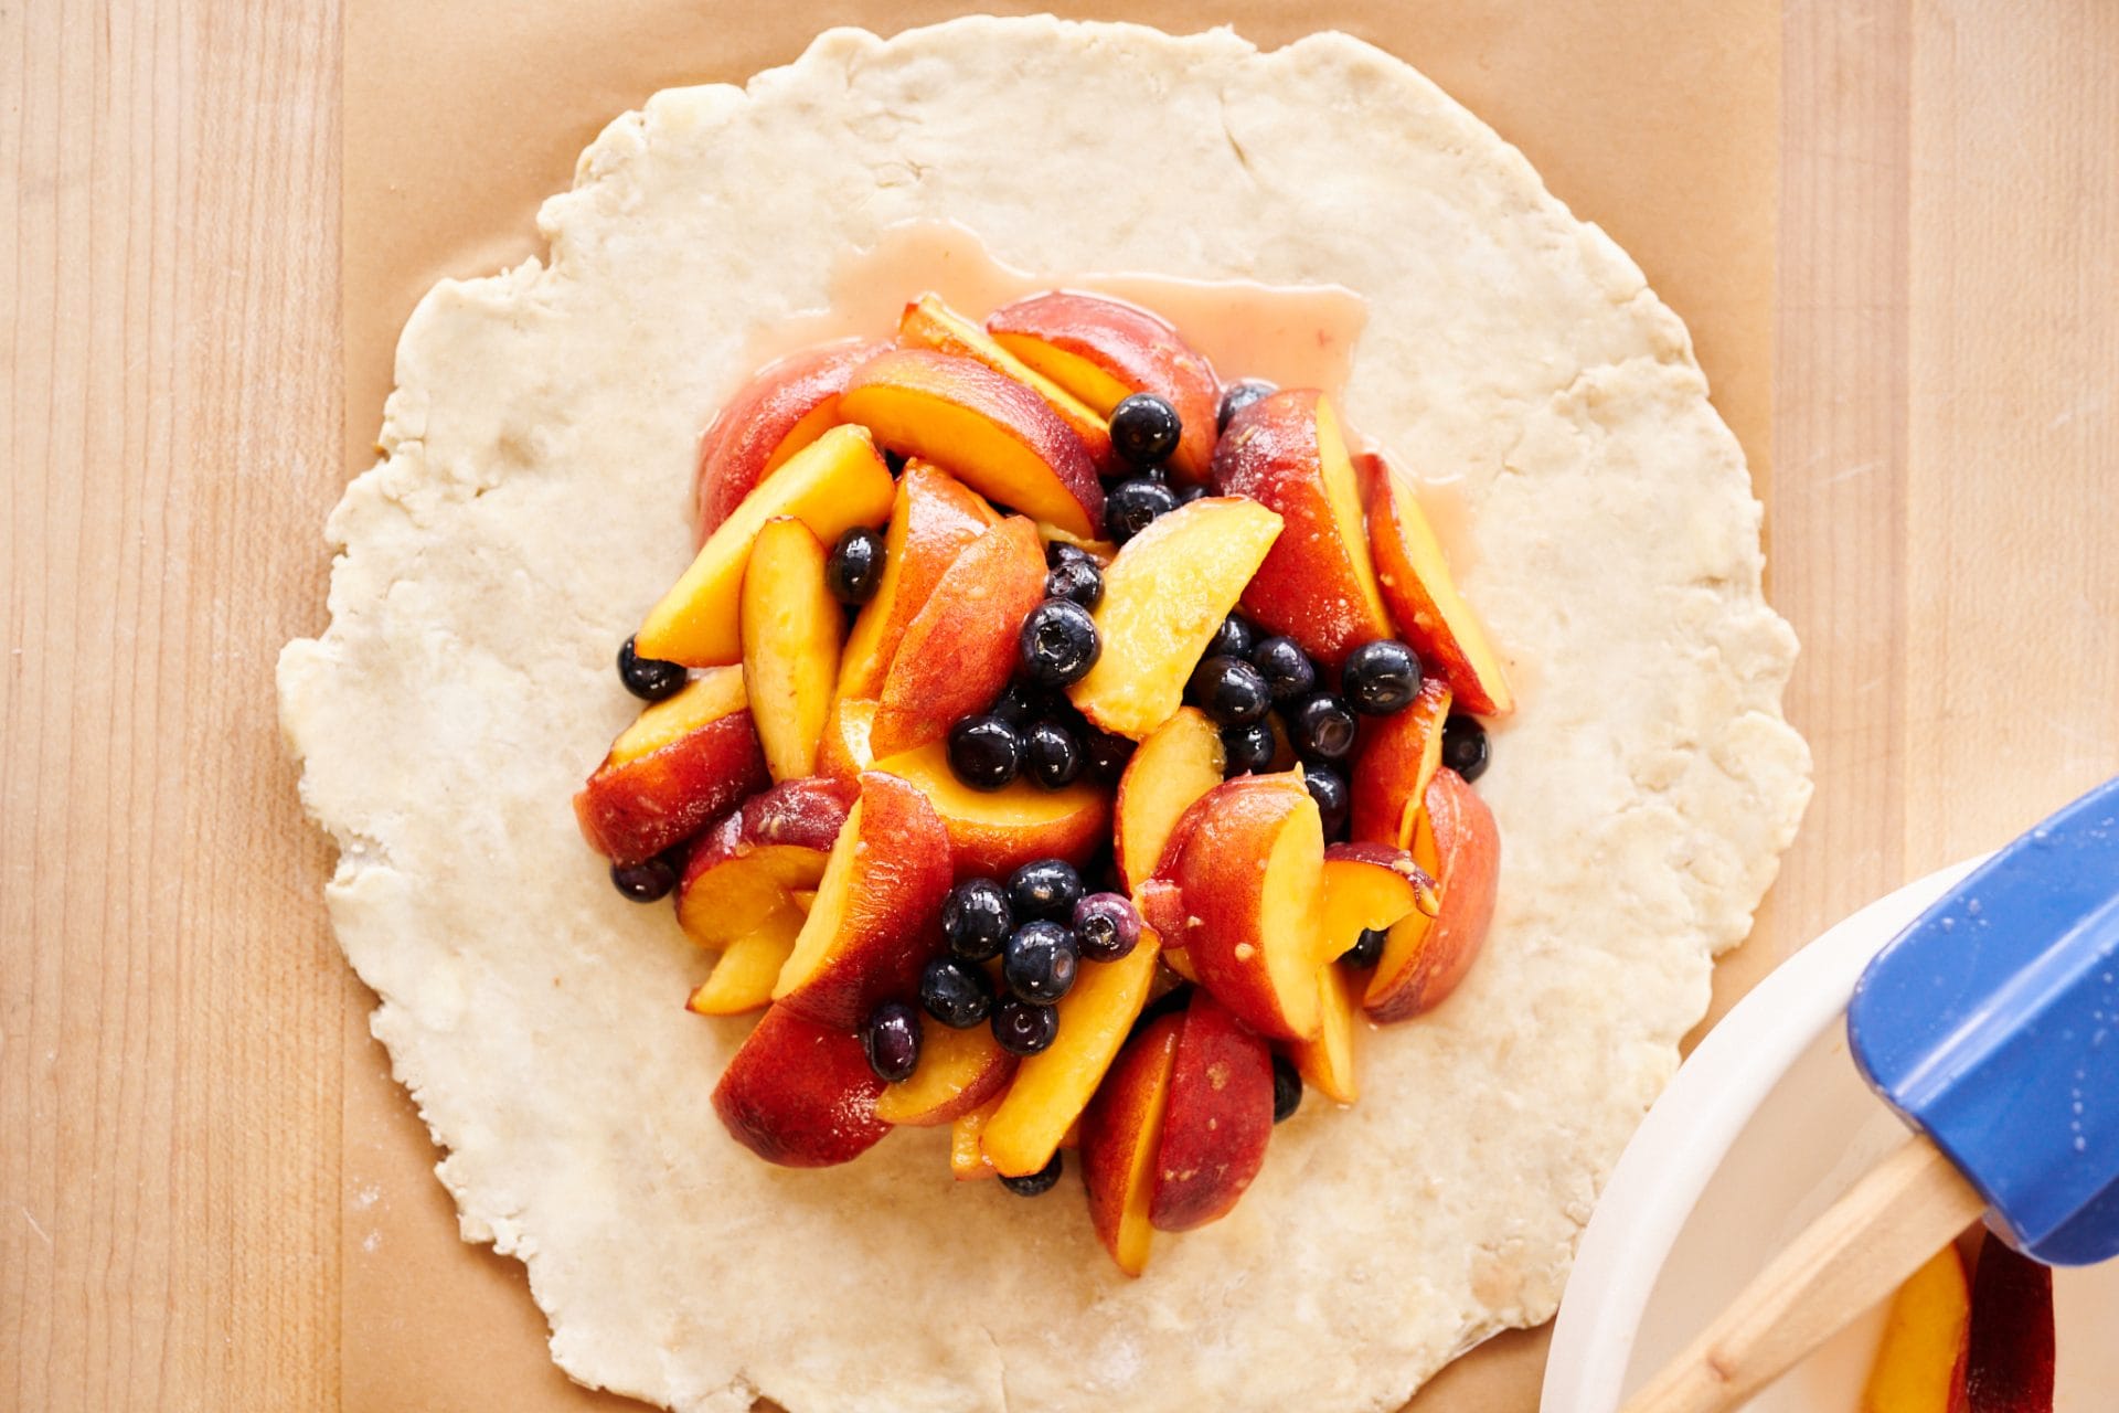
[[1892, 938], [1854, 989], [1848, 1040], [1913, 1138], [1625, 1413], [1742, 1405], [1981, 1216], [2047, 1265], [2119, 1256], [2119, 780]]

